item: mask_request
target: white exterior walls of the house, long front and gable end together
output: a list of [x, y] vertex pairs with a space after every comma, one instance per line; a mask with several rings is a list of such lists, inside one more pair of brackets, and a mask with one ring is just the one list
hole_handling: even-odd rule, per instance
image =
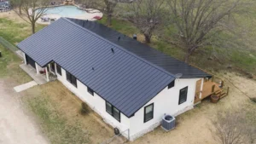
[[[56, 70], [56, 68], [55, 68]], [[70, 89], [74, 95], [77, 95], [82, 101], [85, 101], [95, 112], [97, 112], [104, 121], [113, 126], [117, 127], [120, 131], [130, 130], [130, 140], [135, 140], [137, 137], [154, 130], [157, 127], [164, 114], [171, 114], [177, 116], [182, 112], [186, 112], [194, 106], [195, 98], [195, 84], [200, 78], [179, 78], [175, 81], [175, 86], [171, 89], [163, 89], [158, 95], [156, 95], [151, 101], [148, 101], [144, 107], [151, 103], [154, 103], [154, 118], [144, 123], [144, 107], [139, 109], [135, 115], [131, 118], [127, 118], [123, 113], [120, 114], [120, 122], [117, 121], [113, 116], [106, 112], [106, 101], [101, 96], [94, 93], [90, 95], [87, 92], [87, 87], [77, 80], [77, 88], [70, 84], [66, 78], [66, 71], [61, 68], [61, 76], [55, 72], [58, 80], [64, 84], [67, 89]], [[188, 88], [187, 101], [178, 105], [179, 91], [185, 87]], [[128, 138], [128, 131], [124, 133], [125, 137]]]

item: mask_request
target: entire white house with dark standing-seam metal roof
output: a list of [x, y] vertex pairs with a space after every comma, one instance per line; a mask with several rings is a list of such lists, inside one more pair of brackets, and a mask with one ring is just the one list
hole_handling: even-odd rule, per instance
[[[194, 107], [206, 72], [87, 20], [61, 18], [18, 44], [26, 64], [79, 96], [131, 141]], [[43, 67], [43, 68], [42, 68]], [[48, 72], [49, 71], [49, 72]], [[200, 83], [198, 83], [200, 82]], [[201, 94], [199, 95], [201, 96]]]

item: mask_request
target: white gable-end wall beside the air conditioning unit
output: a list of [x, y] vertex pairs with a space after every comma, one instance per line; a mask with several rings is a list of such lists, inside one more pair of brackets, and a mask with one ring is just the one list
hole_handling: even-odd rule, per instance
[[[195, 84], [200, 78], [179, 78], [175, 80], [175, 86], [171, 89], [163, 89], [151, 101], [144, 106], [154, 103], [154, 118], [144, 123], [144, 107], [138, 110], [133, 117], [130, 118], [130, 135], [131, 140], [154, 130], [157, 127], [164, 114], [177, 116], [182, 112], [188, 111], [194, 106]], [[178, 105], [180, 89], [188, 87], [187, 101]]]

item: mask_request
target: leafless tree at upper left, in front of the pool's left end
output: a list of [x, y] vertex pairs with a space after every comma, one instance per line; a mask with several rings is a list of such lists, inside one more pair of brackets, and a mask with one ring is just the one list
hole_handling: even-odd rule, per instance
[[[49, 0], [12, 0], [15, 13], [32, 26], [32, 33], [35, 33], [36, 22], [42, 17], [48, 6]], [[22, 13], [23, 12], [23, 13]]]

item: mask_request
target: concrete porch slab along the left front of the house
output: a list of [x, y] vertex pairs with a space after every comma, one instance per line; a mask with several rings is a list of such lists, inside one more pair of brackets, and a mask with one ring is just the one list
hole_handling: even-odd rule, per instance
[[26, 64], [22, 64], [20, 65], [20, 68], [25, 71], [31, 78], [34, 79], [34, 81], [41, 85], [41, 84], [45, 84], [47, 83], [46, 79], [44, 78], [44, 76], [42, 75], [38, 75], [36, 72], [36, 69], [34, 69], [32, 66], [30, 65], [26, 65]]

